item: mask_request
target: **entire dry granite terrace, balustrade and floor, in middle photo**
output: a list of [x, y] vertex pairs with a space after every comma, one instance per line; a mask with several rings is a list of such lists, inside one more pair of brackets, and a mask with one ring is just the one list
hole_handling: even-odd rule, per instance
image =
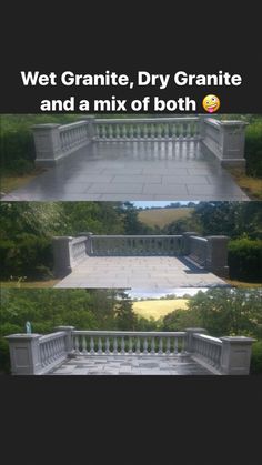
[[56, 287], [210, 287], [228, 285], [228, 237], [82, 235], [54, 237]]

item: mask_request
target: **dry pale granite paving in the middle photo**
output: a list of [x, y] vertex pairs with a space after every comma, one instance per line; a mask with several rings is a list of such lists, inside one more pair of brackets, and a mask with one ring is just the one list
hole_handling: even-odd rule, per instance
[[88, 256], [56, 287], [211, 287], [220, 277], [175, 256]]

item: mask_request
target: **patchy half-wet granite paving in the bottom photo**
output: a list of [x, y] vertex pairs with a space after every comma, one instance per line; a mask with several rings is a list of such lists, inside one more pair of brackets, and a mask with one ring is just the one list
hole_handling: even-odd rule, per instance
[[50, 375], [211, 375], [190, 356], [95, 355], [77, 356]]

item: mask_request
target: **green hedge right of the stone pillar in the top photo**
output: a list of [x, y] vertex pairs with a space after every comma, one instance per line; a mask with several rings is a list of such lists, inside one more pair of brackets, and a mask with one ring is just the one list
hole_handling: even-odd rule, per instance
[[246, 174], [262, 176], [262, 121], [253, 122], [245, 132]]

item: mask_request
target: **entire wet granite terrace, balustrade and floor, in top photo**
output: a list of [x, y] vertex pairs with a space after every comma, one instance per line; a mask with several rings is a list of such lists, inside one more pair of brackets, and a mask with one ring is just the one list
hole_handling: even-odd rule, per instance
[[223, 166], [244, 168], [243, 122], [87, 119], [33, 129], [47, 171], [2, 200], [248, 200]]

